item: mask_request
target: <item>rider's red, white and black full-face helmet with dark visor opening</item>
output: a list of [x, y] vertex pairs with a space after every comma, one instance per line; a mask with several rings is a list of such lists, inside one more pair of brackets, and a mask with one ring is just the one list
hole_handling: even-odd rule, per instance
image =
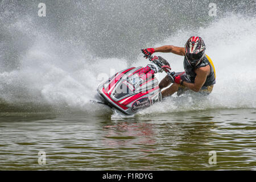
[[206, 47], [202, 38], [199, 36], [189, 38], [185, 44], [185, 56], [187, 57], [188, 63], [196, 67], [204, 57], [205, 49]]

